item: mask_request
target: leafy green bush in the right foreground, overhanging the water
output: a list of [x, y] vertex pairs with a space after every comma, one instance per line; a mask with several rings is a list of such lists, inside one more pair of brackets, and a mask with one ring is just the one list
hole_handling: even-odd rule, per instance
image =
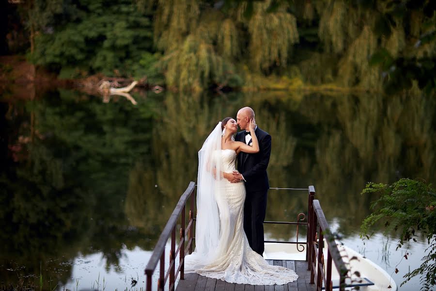
[[372, 226], [377, 222], [384, 222], [385, 234], [391, 231], [400, 233], [398, 247], [416, 242], [415, 237], [425, 237], [429, 243], [428, 253], [422, 258], [420, 268], [407, 273], [405, 278], [409, 280], [413, 276], [421, 275], [421, 290], [430, 290], [436, 286], [435, 190], [421, 181], [402, 178], [391, 185], [370, 182], [362, 191], [362, 194], [373, 193], [381, 194], [381, 197], [372, 205], [374, 212], [363, 221], [362, 235], [369, 239], [368, 233]]

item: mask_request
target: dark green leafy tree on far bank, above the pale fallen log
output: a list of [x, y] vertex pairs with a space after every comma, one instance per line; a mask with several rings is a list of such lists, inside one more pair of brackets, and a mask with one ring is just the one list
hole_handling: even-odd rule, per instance
[[62, 78], [102, 72], [138, 76], [143, 53], [152, 48], [151, 16], [129, 0], [62, 2], [36, 37], [33, 61], [60, 72]]

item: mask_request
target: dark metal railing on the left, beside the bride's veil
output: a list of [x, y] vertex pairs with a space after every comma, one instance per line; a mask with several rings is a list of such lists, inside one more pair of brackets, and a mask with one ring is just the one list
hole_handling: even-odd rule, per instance
[[[194, 195], [195, 183], [190, 182], [185, 193], [180, 197], [177, 206], [170, 216], [164, 230], [160, 234], [159, 240], [156, 243], [156, 247], [153, 251], [153, 254], [150, 260], [145, 267], [145, 275], [147, 276], [146, 282], [146, 291], [152, 290], [152, 276], [156, 270], [157, 262], [160, 261], [159, 265], [159, 279], [157, 281], [157, 290], [164, 290], [164, 286], [170, 278], [170, 291], [174, 291], [174, 283], [175, 278], [180, 272], [180, 279], [183, 280], [185, 277], [185, 254], [188, 252], [192, 253], [192, 244], [194, 240], [194, 207], [195, 207], [195, 195]], [[186, 204], [188, 199], [190, 199], [190, 210], [189, 210], [189, 222], [186, 225]], [[181, 227], [180, 227], [180, 242], [177, 246], [177, 250], [175, 250], [175, 234], [176, 234], [176, 226], [177, 220], [181, 216]], [[185, 248], [185, 230], [188, 229], [188, 241], [187, 246]], [[171, 236], [171, 250], [170, 250], [170, 266], [167, 274], [165, 274], [165, 245], [168, 242], [168, 239]], [[180, 251], [179, 257], [179, 267], [177, 271], [175, 271], [175, 258], [177, 253]]]

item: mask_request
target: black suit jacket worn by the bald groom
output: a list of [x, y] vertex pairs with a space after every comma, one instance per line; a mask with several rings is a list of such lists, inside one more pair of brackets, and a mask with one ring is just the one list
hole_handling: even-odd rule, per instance
[[[245, 144], [244, 131], [238, 132], [235, 140]], [[247, 192], [266, 191], [269, 189], [266, 168], [268, 167], [269, 156], [271, 155], [271, 136], [259, 127], [255, 130], [255, 133], [259, 141], [259, 152], [256, 154], [240, 152], [238, 155], [238, 171], [247, 181], [245, 183]]]

